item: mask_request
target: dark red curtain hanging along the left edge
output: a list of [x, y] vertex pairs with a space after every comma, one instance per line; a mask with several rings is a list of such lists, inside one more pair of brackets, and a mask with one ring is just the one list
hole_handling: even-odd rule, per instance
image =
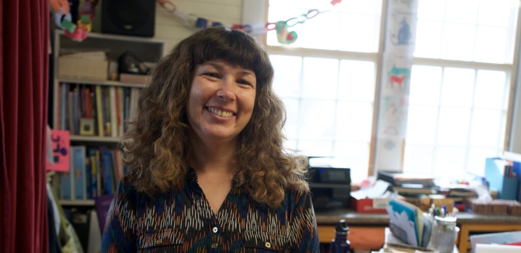
[[47, 252], [49, 0], [0, 0], [0, 251]]

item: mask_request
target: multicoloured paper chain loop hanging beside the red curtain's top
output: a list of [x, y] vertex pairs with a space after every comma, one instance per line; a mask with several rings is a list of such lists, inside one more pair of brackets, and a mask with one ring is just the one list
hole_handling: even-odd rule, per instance
[[80, 19], [74, 23], [70, 14], [69, 2], [67, 0], [51, 0], [54, 22], [61, 30], [65, 31], [65, 36], [73, 41], [81, 42], [92, 30], [92, 19], [97, 2], [98, 0], [86, 0], [83, 3], [83, 9], [80, 11]]

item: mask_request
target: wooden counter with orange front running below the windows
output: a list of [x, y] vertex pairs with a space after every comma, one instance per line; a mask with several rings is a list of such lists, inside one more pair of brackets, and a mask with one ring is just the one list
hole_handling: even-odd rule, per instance
[[[387, 214], [358, 214], [350, 209], [316, 211], [318, 236], [321, 243], [330, 243], [334, 228], [344, 219], [349, 225], [349, 241], [353, 249], [378, 249], [383, 246], [385, 228], [389, 226]], [[521, 216], [477, 215], [462, 212], [456, 215], [460, 228], [457, 246], [460, 252], [469, 249], [470, 232], [504, 232], [521, 230]]]

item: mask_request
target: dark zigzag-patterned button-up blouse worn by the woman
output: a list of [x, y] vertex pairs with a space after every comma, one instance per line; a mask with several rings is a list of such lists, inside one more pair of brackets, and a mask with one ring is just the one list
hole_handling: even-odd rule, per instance
[[217, 215], [193, 169], [181, 190], [138, 192], [135, 173], [123, 177], [110, 205], [102, 252], [318, 252], [309, 193], [286, 191], [276, 209], [235, 184]]

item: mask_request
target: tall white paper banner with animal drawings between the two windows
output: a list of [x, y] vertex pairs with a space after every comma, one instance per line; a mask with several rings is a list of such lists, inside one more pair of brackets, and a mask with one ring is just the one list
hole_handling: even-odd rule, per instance
[[418, 0], [390, 0], [376, 151], [377, 170], [403, 170]]

